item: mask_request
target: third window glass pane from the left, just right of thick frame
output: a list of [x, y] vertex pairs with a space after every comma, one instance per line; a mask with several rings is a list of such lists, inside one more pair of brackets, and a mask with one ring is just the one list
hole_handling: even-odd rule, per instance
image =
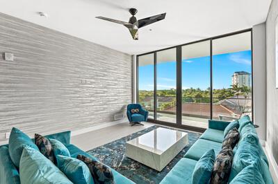
[[211, 118], [210, 41], [182, 47], [182, 124], [208, 127]]

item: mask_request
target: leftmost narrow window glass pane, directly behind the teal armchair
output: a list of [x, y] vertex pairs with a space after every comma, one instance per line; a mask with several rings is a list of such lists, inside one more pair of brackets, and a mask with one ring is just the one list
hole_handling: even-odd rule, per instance
[[154, 54], [138, 57], [138, 103], [154, 119]]

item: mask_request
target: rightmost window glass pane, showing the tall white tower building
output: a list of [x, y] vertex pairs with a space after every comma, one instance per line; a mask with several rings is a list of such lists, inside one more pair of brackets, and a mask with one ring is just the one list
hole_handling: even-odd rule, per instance
[[213, 40], [213, 119], [252, 116], [251, 32]]

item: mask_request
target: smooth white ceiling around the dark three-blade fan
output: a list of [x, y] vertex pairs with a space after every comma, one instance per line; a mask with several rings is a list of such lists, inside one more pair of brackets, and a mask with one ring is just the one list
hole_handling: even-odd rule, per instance
[[[1, 0], [3, 12], [124, 53], [138, 54], [199, 39], [252, 28], [265, 21], [271, 0]], [[128, 21], [128, 9], [142, 19], [167, 12], [166, 18], [139, 30], [133, 40], [120, 24], [95, 19], [104, 16]], [[40, 17], [46, 12], [49, 17]], [[150, 31], [149, 29], [152, 29]]]

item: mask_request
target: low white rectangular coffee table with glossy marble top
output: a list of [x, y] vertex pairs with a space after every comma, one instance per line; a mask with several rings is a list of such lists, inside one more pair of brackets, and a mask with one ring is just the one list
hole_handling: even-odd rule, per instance
[[126, 156], [160, 172], [186, 145], [186, 132], [159, 127], [126, 142]]

